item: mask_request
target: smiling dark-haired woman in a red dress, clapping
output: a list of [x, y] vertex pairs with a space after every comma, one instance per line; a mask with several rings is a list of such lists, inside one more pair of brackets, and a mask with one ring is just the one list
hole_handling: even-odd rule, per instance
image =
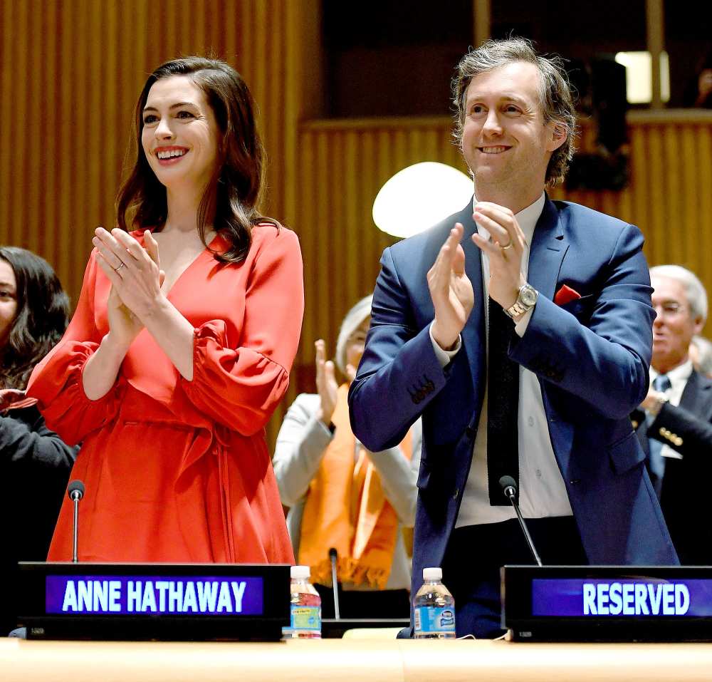
[[[47, 423], [83, 441], [79, 557], [292, 562], [264, 426], [298, 345], [302, 262], [258, 212], [251, 95], [222, 61], [169, 61], [135, 125], [119, 227], [96, 229], [75, 316], [30, 381]], [[49, 557], [71, 552], [66, 500]]]

